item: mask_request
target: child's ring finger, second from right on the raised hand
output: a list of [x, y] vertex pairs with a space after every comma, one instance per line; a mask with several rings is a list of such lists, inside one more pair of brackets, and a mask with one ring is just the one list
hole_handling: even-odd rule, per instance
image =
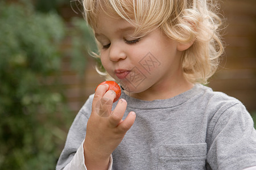
[[122, 120], [123, 114], [125, 114], [126, 100], [120, 99], [115, 107], [113, 113], [109, 117], [110, 125], [116, 127]]

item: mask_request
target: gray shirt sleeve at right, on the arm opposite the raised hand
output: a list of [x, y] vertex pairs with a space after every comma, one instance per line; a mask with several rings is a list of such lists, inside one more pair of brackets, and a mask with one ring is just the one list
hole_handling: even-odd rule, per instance
[[256, 166], [256, 131], [245, 107], [235, 104], [213, 120], [207, 154], [210, 167], [235, 170]]

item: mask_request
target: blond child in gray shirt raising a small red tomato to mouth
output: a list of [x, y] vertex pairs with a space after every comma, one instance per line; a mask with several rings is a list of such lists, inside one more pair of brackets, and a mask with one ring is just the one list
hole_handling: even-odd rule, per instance
[[250, 114], [237, 99], [200, 84], [223, 52], [213, 1], [83, 5], [104, 74], [123, 91], [116, 103], [108, 85], [89, 97], [56, 169], [255, 168]]

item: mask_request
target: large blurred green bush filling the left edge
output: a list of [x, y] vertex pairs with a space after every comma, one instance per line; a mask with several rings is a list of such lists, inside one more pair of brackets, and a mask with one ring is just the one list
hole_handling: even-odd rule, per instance
[[64, 23], [27, 3], [6, 2], [0, 1], [0, 167], [55, 169], [73, 120], [56, 76]]

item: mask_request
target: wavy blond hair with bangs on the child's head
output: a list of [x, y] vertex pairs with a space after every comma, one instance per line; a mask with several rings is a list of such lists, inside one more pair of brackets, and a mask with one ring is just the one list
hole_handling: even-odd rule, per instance
[[[184, 51], [182, 69], [192, 83], [207, 83], [224, 52], [220, 39], [221, 18], [211, 0], [83, 0], [85, 19], [97, 27], [100, 12], [123, 18], [135, 26], [134, 35], [146, 35], [160, 28], [181, 43], [193, 41]], [[99, 56], [98, 56], [99, 57]]]

